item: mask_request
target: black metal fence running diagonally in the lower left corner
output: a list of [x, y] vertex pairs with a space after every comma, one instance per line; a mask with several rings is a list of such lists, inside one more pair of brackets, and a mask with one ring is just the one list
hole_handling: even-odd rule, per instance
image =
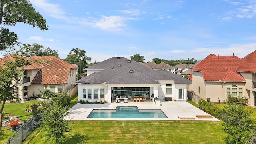
[[28, 118], [26, 120], [26, 123], [22, 124], [22, 126], [17, 130], [17, 132], [11, 138], [9, 138], [6, 144], [21, 144], [38, 126], [40, 118], [40, 114]]

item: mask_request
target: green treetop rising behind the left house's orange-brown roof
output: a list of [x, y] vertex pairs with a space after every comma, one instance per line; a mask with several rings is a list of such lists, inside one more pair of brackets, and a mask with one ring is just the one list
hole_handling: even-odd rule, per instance
[[44, 48], [44, 46], [33, 43], [33, 44], [24, 44], [24, 47], [27, 48], [27, 56], [56, 56], [59, 57], [57, 50], [52, 50], [49, 47]]

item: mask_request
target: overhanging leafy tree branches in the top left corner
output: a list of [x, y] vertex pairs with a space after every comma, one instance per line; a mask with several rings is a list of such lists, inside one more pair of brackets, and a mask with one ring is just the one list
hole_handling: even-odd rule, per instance
[[[28, 0], [0, 0], [0, 26], [15, 26], [18, 22], [32, 25], [40, 30], [48, 30], [46, 20], [35, 11]], [[0, 50], [12, 48], [18, 36], [8, 28], [1, 27]]]

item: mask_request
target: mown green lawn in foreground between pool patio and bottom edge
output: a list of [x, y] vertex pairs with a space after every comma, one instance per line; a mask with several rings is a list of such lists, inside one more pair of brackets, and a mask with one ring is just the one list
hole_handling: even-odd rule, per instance
[[[216, 121], [70, 121], [65, 144], [225, 144]], [[23, 144], [43, 144], [36, 129]], [[48, 143], [48, 142], [47, 142]]]

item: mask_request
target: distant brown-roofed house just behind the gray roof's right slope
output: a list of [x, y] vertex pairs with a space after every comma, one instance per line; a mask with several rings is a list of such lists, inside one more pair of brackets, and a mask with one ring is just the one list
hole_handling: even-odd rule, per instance
[[174, 73], [174, 68], [164, 62], [161, 62], [160, 64], [156, 64], [155, 62], [148, 62], [148, 63], [139, 62], [139, 63], [149, 68], [152, 68], [154, 70], [167, 70], [169, 72]]

